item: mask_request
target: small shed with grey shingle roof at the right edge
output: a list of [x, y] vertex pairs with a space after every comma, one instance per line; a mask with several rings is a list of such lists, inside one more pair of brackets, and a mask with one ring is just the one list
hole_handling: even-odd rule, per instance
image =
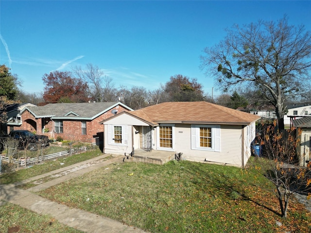
[[[292, 120], [295, 128], [301, 128], [300, 143], [296, 148], [300, 166], [307, 166], [311, 161], [311, 116]], [[298, 134], [298, 133], [297, 133]]]

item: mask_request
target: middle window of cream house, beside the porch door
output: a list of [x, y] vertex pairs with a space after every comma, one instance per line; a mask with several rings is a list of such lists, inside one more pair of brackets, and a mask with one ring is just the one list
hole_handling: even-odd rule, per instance
[[162, 124], [157, 127], [157, 149], [174, 150], [174, 124]]

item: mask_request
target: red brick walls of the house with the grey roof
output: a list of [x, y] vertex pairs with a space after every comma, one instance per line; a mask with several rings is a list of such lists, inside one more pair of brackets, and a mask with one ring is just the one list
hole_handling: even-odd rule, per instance
[[[14, 127], [15, 130], [29, 130], [36, 131], [37, 134], [44, 134], [49, 136], [50, 139], [56, 140], [60, 136], [63, 140], [69, 141], [86, 141], [86, 142], [95, 142], [96, 137], [103, 136], [104, 125], [99, 124], [99, 122], [113, 116], [112, 110], [118, 110], [118, 113], [127, 110], [122, 106], [118, 105], [114, 108], [109, 109], [107, 112], [101, 116], [96, 117], [92, 121], [86, 121], [86, 135], [82, 134], [82, 121], [74, 120], [63, 120], [63, 133], [54, 132], [54, 122], [49, 119], [42, 119], [35, 117], [28, 111], [24, 111], [21, 115], [22, 125], [20, 127]], [[43, 126], [42, 126], [43, 124]], [[49, 132], [42, 132], [42, 128], [49, 129]]]

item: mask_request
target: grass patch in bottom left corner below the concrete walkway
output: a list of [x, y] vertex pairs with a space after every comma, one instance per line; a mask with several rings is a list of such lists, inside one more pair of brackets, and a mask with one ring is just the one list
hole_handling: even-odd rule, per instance
[[0, 232], [82, 233], [59, 223], [51, 216], [39, 215], [11, 203], [0, 206]]

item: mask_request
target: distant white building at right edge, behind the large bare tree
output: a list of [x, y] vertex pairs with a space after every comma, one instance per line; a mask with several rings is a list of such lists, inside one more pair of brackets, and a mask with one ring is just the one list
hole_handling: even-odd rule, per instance
[[311, 105], [300, 104], [287, 106], [287, 113], [284, 115], [284, 125], [293, 126], [293, 120], [311, 116]]

